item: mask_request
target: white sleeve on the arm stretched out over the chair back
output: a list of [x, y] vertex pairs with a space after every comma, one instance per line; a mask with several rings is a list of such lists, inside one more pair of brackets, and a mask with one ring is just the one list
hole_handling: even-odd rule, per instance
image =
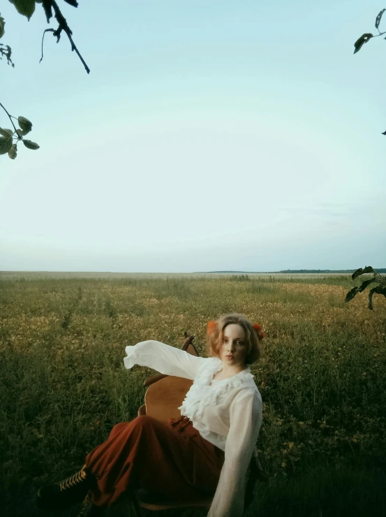
[[175, 375], [192, 381], [202, 361], [207, 361], [207, 358], [192, 356], [184, 350], [154, 340], [141, 341], [126, 347], [125, 351], [127, 357], [124, 358], [124, 365], [127, 369], [134, 365], [148, 366], [165, 375]]

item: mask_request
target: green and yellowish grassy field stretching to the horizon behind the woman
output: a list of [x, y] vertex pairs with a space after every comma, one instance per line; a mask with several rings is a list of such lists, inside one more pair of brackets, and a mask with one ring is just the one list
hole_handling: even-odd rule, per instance
[[126, 370], [127, 344], [181, 347], [186, 331], [204, 355], [207, 321], [242, 312], [267, 334], [251, 370], [270, 480], [248, 515], [386, 515], [386, 299], [374, 296], [371, 312], [366, 291], [343, 303], [350, 275], [303, 276], [1, 274], [0, 514], [41, 515], [38, 486], [75, 473], [137, 416], [154, 370]]

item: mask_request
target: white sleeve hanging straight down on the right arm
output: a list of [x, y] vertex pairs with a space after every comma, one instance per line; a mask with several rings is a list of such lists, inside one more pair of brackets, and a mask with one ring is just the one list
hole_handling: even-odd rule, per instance
[[225, 460], [207, 517], [242, 517], [246, 472], [262, 423], [258, 392], [242, 390], [230, 405], [230, 429], [225, 442]]

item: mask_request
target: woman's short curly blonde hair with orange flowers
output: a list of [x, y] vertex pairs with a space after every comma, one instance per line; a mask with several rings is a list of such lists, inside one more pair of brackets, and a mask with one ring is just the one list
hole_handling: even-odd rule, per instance
[[216, 326], [212, 328], [210, 333], [207, 333], [207, 354], [211, 357], [219, 356], [223, 331], [227, 325], [232, 324], [239, 325], [244, 329], [247, 346], [245, 363], [247, 365], [257, 363], [262, 357], [261, 340], [259, 340], [251, 321], [248, 321], [245, 316], [237, 312], [223, 314], [223, 316], [216, 320]]

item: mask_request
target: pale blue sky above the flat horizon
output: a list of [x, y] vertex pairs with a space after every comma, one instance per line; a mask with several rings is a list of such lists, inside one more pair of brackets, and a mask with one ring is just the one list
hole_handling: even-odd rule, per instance
[[89, 75], [1, 2], [0, 102], [40, 149], [0, 156], [0, 270], [386, 267], [386, 42], [353, 54], [386, 5], [58, 3]]

